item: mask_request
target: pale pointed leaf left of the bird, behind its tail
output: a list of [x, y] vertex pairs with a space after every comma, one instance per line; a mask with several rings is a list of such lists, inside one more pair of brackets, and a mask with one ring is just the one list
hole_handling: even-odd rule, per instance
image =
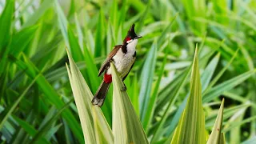
[[[78, 70], [78, 67], [75, 65], [74, 60], [70, 57], [68, 51], [67, 54], [70, 62], [70, 69], [68, 66], [66, 66], [66, 68], [68, 70], [70, 85], [74, 94], [74, 101], [78, 107], [78, 114], [82, 125], [85, 142], [97, 143], [94, 125], [98, 125], [101, 126], [100, 130], [103, 133], [103, 137], [101, 138], [103, 140], [108, 140], [107, 143], [113, 143], [113, 136], [112, 131], [110, 130], [110, 126], [108, 126], [100, 108], [91, 104], [93, 94], [91, 93], [89, 86], [86, 84], [86, 81], [82, 77], [82, 74]], [[93, 109], [95, 109], [94, 111], [96, 114], [94, 115], [97, 116], [95, 118], [97, 118], [96, 122], [98, 123], [94, 123], [94, 117], [92, 114]]]

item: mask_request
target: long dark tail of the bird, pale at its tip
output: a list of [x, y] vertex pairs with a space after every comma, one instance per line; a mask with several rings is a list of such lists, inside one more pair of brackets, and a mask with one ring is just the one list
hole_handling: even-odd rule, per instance
[[94, 94], [94, 98], [91, 101], [91, 103], [93, 105], [97, 105], [101, 107], [104, 103], [104, 100], [106, 98], [106, 93], [109, 90], [109, 88], [110, 88], [110, 83], [106, 83], [103, 80], [102, 84], [98, 87], [96, 94]]

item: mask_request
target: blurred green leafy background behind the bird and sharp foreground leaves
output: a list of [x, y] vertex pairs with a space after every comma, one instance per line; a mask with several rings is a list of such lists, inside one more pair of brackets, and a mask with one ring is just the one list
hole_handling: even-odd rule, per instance
[[[256, 141], [254, 0], [0, 0], [0, 14], [1, 143], [83, 142], [66, 48], [94, 94], [133, 23], [143, 38], [125, 83], [150, 142], [177, 126], [196, 43], [207, 132], [225, 98], [226, 142]], [[112, 87], [102, 111], [111, 126]]]

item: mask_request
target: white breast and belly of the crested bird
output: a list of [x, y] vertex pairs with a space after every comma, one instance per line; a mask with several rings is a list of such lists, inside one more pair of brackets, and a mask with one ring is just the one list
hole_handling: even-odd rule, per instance
[[[133, 42], [130, 42], [127, 45], [126, 54], [122, 52], [122, 49], [119, 49], [117, 54], [114, 55], [114, 66], [118, 70], [121, 78], [125, 77], [128, 74], [130, 67], [134, 64], [135, 57], [135, 47], [137, 45], [138, 40], [135, 39]], [[111, 74], [111, 70], [107, 70], [107, 74]]]

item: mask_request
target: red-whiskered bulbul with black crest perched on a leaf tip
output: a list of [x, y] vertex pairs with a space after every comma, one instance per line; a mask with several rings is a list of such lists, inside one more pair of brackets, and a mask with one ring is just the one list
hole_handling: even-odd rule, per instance
[[[102, 106], [106, 98], [106, 93], [109, 90], [110, 83], [112, 82], [110, 62], [113, 62], [119, 76], [122, 78], [122, 81], [126, 79], [130, 69], [134, 66], [136, 58], [135, 48], [138, 43], [138, 38], [142, 38], [142, 36], [138, 36], [135, 33], [134, 26], [134, 24], [130, 26], [130, 30], [128, 30], [122, 45], [114, 46], [114, 50], [110, 52], [106, 60], [102, 63], [98, 76], [100, 76], [104, 71], [105, 74], [102, 84], [98, 87], [98, 90], [91, 101], [93, 105], [97, 105], [99, 107]], [[126, 90], [126, 87], [124, 87], [123, 90]]]

